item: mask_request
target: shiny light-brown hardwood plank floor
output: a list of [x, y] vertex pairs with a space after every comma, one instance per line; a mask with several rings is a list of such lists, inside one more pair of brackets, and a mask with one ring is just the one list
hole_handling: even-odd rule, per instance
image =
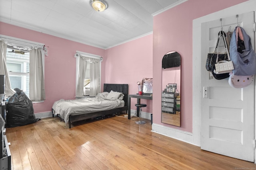
[[256, 169], [246, 162], [151, 132], [151, 123], [111, 117], [75, 122], [58, 117], [6, 129], [13, 170], [234, 170]]

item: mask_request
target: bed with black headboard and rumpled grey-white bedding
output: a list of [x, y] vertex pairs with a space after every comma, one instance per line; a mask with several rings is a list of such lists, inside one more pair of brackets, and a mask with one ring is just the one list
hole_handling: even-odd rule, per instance
[[[54, 102], [52, 106], [52, 117], [54, 117], [54, 115], [58, 115], [60, 119], [64, 119], [65, 123], [69, 124], [69, 128], [71, 128], [71, 123], [75, 121], [100, 116], [104, 117], [105, 115], [119, 113], [122, 111], [126, 111], [127, 113], [128, 84], [104, 84], [103, 89], [104, 92], [97, 94], [97, 96], [93, 98], [58, 100]], [[113, 95], [117, 95], [117, 92], [123, 94], [120, 95], [120, 97], [123, 97], [120, 101], [113, 97]], [[107, 98], [107, 100], [110, 101], [105, 101], [104, 99], [109, 96], [113, 98]], [[108, 106], [108, 103], [110, 102], [112, 102], [110, 104], [111, 106]]]

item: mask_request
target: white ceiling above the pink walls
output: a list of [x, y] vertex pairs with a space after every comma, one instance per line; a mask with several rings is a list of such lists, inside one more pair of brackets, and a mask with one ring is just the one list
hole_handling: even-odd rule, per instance
[[108, 49], [152, 33], [153, 16], [186, 0], [0, 0], [0, 21]]

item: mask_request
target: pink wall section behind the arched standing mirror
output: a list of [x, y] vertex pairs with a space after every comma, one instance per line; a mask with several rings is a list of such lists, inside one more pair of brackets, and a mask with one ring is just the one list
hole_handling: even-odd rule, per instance
[[192, 21], [246, 0], [188, 0], [154, 17], [153, 78], [161, 82], [162, 57], [181, 55], [181, 127], [161, 123], [161, 84], [154, 84], [153, 123], [192, 132]]

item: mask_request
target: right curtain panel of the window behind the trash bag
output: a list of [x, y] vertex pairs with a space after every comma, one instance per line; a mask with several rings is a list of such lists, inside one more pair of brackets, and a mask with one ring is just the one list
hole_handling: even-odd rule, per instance
[[41, 49], [30, 50], [29, 98], [33, 102], [45, 100], [44, 72]]

